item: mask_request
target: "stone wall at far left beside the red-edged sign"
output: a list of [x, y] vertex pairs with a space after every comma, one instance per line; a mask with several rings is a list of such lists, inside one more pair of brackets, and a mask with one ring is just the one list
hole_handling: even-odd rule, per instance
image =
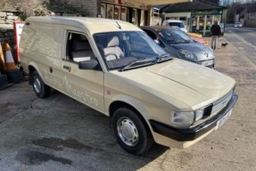
[[14, 45], [14, 20], [20, 20], [21, 12], [0, 11], [0, 42], [7, 41], [13, 48]]

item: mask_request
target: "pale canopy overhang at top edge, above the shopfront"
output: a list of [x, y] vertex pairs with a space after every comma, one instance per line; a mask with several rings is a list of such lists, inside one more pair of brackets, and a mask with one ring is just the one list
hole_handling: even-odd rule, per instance
[[175, 3], [186, 3], [192, 2], [193, 0], [128, 0], [130, 3], [140, 3], [147, 5], [157, 5], [157, 4], [175, 4]]

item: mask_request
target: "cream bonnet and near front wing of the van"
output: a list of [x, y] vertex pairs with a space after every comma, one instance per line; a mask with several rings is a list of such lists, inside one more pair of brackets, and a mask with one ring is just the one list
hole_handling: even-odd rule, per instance
[[[219, 100], [235, 85], [233, 78], [213, 69], [198, 68], [192, 62], [177, 59], [141, 69], [111, 73], [105, 76], [104, 86], [112, 94], [112, 98], [108, 96], [105, 100], [106, 107], [118, 99], [115, 95], [122, 94], [129, 97], [127, 102], [133, 102], [133, 106], [147, 107], [139, 110], [145, 118], [170, 126], [170, 110], [198, 110]], [[180, 73], [187, 75], [186, 79]], [[136, 102], [135, 99], [140, 101]]]

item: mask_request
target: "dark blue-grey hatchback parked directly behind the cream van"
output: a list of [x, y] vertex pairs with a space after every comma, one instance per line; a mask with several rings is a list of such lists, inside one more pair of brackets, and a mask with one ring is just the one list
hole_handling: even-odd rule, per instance
[[180, 29], [169, 28], [169, 26], [143, 26], [141, 28], [171, 56], [211, 69], [215, 68], [215, 57], [211, 48], [194, 41]]

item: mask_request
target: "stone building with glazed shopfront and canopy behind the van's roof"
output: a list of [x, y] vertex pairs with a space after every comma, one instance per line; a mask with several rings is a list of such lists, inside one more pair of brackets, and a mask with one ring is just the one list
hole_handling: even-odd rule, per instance
[[88, 17], [126, 20], [137, 26], [149, 25], [155, 4], [190, 2], [191, 0], [61, 0]]

